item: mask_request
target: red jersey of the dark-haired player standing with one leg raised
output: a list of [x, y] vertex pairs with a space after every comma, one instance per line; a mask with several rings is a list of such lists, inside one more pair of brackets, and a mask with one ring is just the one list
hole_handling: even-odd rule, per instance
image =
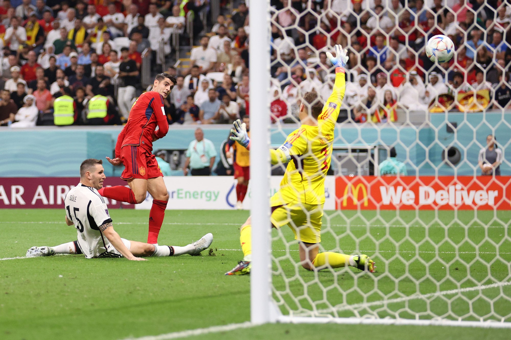
[[125, 145], [140, 146], [152, 153], [153, 134], [159, 139], [167, 132], [169, 132], [169, 123], [165, 114], [163, 96], [155, 91], [142, 93], [129, 112], [128, 123], [117, 137], [115, 157], [121, 155], [121, 148]]

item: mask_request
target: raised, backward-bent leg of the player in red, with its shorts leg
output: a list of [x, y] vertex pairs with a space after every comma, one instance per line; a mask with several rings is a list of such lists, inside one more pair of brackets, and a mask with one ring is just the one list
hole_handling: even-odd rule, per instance
[[124, 164], [121, 178], [128, 182], [124, 185], [104, 187], [99, 194], [111, 200], [138, 204], [144, 202], [147, 195], [146, 155], [141, 148], [126, 145], [121, 149], [120, 158]]

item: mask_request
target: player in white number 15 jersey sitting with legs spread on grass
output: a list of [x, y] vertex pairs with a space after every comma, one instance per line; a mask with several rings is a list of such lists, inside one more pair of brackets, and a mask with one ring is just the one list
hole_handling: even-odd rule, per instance
[[125, 257], [128, 260], [145, 260], [141, 256], [199, 255], [213, 242], [213, 234], [184, 247], [158, 246], [121, 238], [113, 230], [105, 200], [98, 193], [105, 180], [102, 161], [86, 159], [80, 165], [80, 183], [69, 190], [64, 200], [65, 222], [74, 225], [78, 239], [56, 247], [32, 247], [27, 257], [55, 254], [84, 254], [86, 258]]

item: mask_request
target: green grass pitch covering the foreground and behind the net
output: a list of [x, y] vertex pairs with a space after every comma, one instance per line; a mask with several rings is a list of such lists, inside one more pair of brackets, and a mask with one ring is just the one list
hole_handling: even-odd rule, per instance
[[[110, 214], [122, 237], [146, 239], [148, 211], [110, 210]], [[76, 230], [63, 223], [63, 210], [1, 210], [0, 216], [0, 258], [24, 256], [31, 246], [76, 239]], [[159, 244], [185, 245], [212, 232], [213, 251], [200, 257], [144, 262], [71, 255], [0, 260], [0, 339], [120, 339], [248, 321], [250, 278], [223, 275], [242, 258], [238, 228], [247, 216], [247, 211], [167, 211]], [[274, 297], [284, 313], [284, 302], [295, 313], [307, 313], [312, 307], [326, 309], [328, 301], [338, 305], [334, 314], [341, 317], [431, 319], [436, 314], [463, 320], [476, 320], [479, 315], [486, 320], [502, 315], [511, 321], [510, 285], [471, 290], [510, 281], [510, 220], [510, 211], [499, 211], [496, 218], [493, 212], [475, 216], [444, 211], [382, 211], [379, 216], [374, 211], [328, 212], [323, 248], [351, 253], [358, 247], [375, 258], [378, 273], [351, 268], [313, 273], [297, 268], [298, 252], [283, 251], [284, 239], [289, 249], [297, 249], [292, 232], [283, 228], [272, 234], [273, 256], [278, 259], [273, 265]], [[457, 288], [457, 282], [468, 290], [434, 295]], [[410, 297], [417, 289], [429, 294], [429, 304]], [[363, 296], [369, 306], [360, 305]], [[382, 305], [383, 297], [394, 299], [393, 303]], [[343, 302], [357, 307], [346, 309]], [[493, 340], [507, 339], [508, 334], [508, 330], [459, 327], [276, 324], [205, 336]]]

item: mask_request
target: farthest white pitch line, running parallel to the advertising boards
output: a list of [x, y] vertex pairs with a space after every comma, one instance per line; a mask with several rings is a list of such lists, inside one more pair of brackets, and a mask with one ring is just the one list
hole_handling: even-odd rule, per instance
[[[0, 224], [61, 224], [64, 225], [64, 222], [60, 221], [48, 221], [48, 222], [35, 222], [35, 221], [0, 221]], [[145, 222], [114, 222], [114, 224], [127, 224], [127, 225], [147, 225]], [[164, 222], [164, 225], [172, 225], [172, 226], [241, 226], [241, 223], [181, 223], [181, 222]], [[410, 226], [404, 226], [404, 225], [398, 225], [398, 224], [327, 224], [324, 223], [323, 226], [325, 227], [400, 227], [400, 228], [406, 228], [406, 227], [413, 227], [413, 228], [427, 228], [428, 226], [425, 225], [410, 225]], [[446, 226], [442, 226], [439, 224], [434, 224], [429, 226], [428, 228], [433, 227], [441, 227], [444, 228]], [[466, 226], [450, 226], [449, 228], [465, 228]], [[509, 226], [470, 226], [469, 228], [508, 228]]]

